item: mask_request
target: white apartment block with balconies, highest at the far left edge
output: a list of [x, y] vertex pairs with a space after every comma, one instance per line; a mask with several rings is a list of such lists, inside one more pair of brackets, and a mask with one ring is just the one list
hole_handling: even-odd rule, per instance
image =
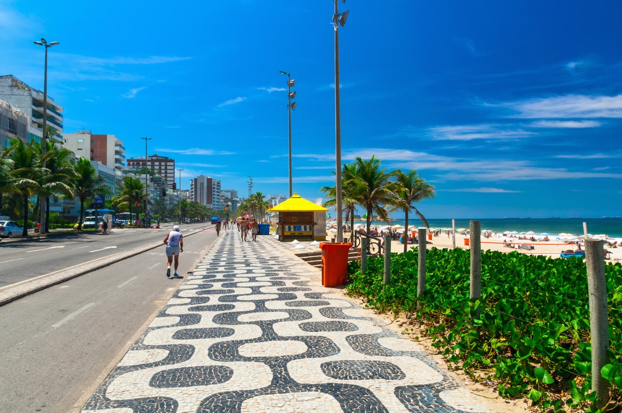
[[[29, 116], [27, 141], [35, 139], [35, 141], [41, 142], [43, 137], [44, 93], [26, 85], [13, 75], [5, 75], [0, 76], [0, 100], [6, 101]], [[63, 107], [53, 100], [52, 96], [47, 96], [47, 126], [54, 130], [50, 139], [59, 144], [62, 142], [60, 134], [63, 132], [63, 110]]]

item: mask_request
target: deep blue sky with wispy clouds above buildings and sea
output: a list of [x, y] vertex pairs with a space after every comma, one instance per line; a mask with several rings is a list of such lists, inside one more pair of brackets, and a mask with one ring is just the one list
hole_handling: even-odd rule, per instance
[[[135, 4], [136, 3], [136, 4]], [[139, 4], [140, 3], [140, 4]], [[174, 157], [182, 187], [288, 192], [334, 183], [332, 0], [0, 0], [0, 74], [43, 87], [65, 131]], [[348, 0], [340, 29], [343, 161], [417, 169], [428, 218], [621, 215], [618, 1]], [[42, 17], [39, 17], [42, 16]], [[401, 216], [396, 214], [395, 216]]]

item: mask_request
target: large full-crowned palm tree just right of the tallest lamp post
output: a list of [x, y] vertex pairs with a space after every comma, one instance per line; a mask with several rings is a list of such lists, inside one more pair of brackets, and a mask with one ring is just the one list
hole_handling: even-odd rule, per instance
[[396, 185], [392, 182], [393, 175], [380, 167], [380, 160], [373, 155], [371, 159], [356, 157], [355, 170], [348, 170], [342, 180], [349, 181], [359, 205], [367, 212], [367, 232], [371, 226], [371, 216], [376, 213], [381, 220], [388, 218], [387, 206], [395, 200]]

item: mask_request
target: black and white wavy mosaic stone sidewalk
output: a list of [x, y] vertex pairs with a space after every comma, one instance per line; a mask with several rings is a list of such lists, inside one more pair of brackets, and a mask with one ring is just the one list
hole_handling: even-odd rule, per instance
[[291, 244], [238, 234], [216, 241], [83, 412], [490, 411], [416, 343], [322, 287]]

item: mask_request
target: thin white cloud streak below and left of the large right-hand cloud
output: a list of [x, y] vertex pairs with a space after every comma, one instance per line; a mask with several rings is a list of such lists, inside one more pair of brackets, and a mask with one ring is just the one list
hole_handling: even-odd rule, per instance
[[518, 139], [533, 136], [534, 132], [509, 129], [499, 124], [476, 124], [435, 126], [430, 128], [430, 137], [439, 141], [471, 141], [473, 139]]

